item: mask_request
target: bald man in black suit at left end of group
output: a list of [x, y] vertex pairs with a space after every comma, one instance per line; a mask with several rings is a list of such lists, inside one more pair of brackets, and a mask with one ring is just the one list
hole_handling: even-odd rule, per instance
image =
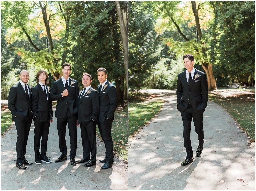
[[26, 146], [28, 142], [28, 134], [32, 123], [31, 112], [31, 86], [27, 84], [29, 73], [26, 70], [20, 72], [20, 82], [11, 87], [8, 96], [8, 108], [12, 114], [12, 120], [15, 122], [17, 130], [17, 160], [16, 167], [26, 169], [25, 165], [32, 165], [28, 162], [26, 154]]

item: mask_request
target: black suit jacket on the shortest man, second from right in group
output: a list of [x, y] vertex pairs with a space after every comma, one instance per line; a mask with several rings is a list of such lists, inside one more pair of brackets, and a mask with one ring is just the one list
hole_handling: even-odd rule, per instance
[[[86, 94], [88, 92], [89, 94]], [[100, 97], [99, 93], [92, 87], [84, 94], [80, 101], [80, 95], [83, 92], [79, 92], [78, 96], [78, 124], [88, 124], [92, 120], [96, 121], [100, 111]]]

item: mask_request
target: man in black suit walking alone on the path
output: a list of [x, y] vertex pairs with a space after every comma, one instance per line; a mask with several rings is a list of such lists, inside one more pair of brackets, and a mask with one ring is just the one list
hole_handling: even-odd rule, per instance
[[181, 112], [183, 122], [183, 138], [187, 156], [181, 165], [188, 165], [192, 162], [193, 150], [190, 140], [191, 121], [195, 125], [199, 145], [196, 156], [203, 151], [204, 130], [203, 112], [208, 101], [208, 83], [206, 74], [194, 68], [194, 56], [186, 54], [183, 56], [184, 66], [187, 70], [178, 74], [177, 81], [177, 102], [178, 110]]

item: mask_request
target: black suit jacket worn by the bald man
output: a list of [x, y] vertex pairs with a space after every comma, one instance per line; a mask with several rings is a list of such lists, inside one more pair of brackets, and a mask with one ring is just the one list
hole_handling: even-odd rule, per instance
[[25, 120], [28, 114], [29, 118], [32, 119], [31, 112], [31, 89], [29, 86], [29, 100], [27, 99], [26, 92], [23, 89], [21, 83], [15, 84], [11, 87], [9, 96], [8, 96], [8, 108], [12, 114], [12, 120], [16, 116], [20, 120]]

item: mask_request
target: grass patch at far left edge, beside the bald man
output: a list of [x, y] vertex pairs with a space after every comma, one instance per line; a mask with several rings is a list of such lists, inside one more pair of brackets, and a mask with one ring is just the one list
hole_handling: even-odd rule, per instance
[[7, 104], [1, 104], [1, 135], [9, 130], [12, 125], [12, 114]]

